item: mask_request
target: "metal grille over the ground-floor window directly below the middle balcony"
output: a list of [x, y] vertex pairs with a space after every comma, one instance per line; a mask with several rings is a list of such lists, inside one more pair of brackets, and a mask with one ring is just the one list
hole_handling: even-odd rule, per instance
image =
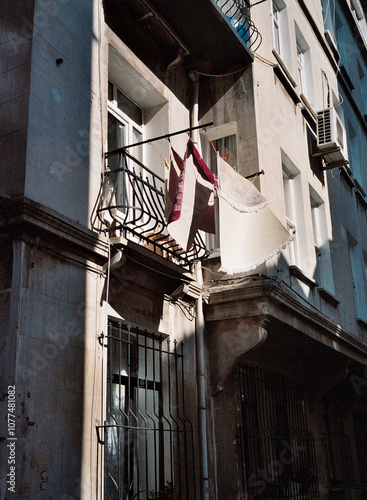
[[111, 323], [107, 346], [105, 499], [196, 499], [183, 344]]

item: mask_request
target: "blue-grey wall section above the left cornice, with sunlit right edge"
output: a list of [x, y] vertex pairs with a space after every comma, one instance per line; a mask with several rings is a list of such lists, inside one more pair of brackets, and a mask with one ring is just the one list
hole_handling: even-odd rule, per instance
[[103, 165], [100, 15], [67, 0], [34, 14], [25, 195], [85, 226]]

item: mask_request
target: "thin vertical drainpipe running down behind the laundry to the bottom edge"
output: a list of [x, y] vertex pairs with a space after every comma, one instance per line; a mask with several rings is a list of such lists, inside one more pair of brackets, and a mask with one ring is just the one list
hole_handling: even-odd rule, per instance
[[[194, 99], [191, 115], [191, 126], [199, 125], [199, 75], [193, 72], [189, 77], [194, 83]], [[199, 131], [193, 131], [192, 141], [198, 144]], [[201, 262], [195, 265], [196, 281], [200, 288], [203, 287], [203, 273]], [[206, 377], [205, 377], [205, 355], [204, 355], [204, 312], [203, 296], [200, 294], [196, 303], [196, 377], [198, 391], [198, 416], [199, 416], [199, 444], [200, 444], [200, 487], [201, 498], [209, 500], [209, 474], [208, 474], [208, 440], [206, 421]]]

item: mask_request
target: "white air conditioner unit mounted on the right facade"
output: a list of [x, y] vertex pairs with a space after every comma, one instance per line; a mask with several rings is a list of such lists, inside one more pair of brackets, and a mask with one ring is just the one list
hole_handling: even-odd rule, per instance
[[347, 160], [345, 129], [335, 108], [317, 112], [317, 147], [326, 163]]

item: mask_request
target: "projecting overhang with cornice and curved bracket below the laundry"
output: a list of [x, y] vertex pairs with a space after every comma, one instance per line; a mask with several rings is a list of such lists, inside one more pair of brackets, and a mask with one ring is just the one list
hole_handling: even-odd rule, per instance
[[[348, 363], [355, 367], [366, 363], [367, 349], [360, 340], [270, 278], [254, 275], [232, 284], [218, 281], [209, 292], [205, 320], [214, 392], [246, 356], [268, 366], [283, 362], [301, 382], [324, 369], [325, 390], [335, 382], [333, 370], [335, 376], [345, 377]], [[309, 388], [314, 398], [321, 379], [320, 375]]]

